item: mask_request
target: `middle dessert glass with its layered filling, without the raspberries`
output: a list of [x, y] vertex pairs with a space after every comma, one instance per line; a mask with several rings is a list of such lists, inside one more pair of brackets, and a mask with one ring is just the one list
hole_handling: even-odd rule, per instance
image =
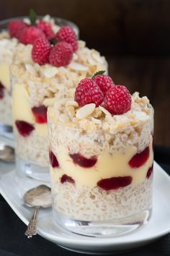
[[[79, 41], [79, 49], [66, 67], [38, 65], [19, 50], [16, 59], [23, 63], [12, 65], [12, 113], [16, 140], [17, 174], [47, 181], [49, 175], [47, 108], [53, 101], [72, 97], [82, 77], [107, 70], [104, 57]], [[26, 51], [26, 50], [25, 50]], [[29, 59], [30, 63], [24, 62]]]

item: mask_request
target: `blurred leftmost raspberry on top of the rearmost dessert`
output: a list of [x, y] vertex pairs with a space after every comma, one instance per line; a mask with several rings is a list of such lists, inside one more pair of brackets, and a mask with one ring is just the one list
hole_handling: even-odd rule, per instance
[[28, 25], [22, 20], [14, 20], [13, 22], [9, 23], [9, 34], [12, 38], [19, 38], [22, 30], [24, 30], [26, 27], [28, 27]]

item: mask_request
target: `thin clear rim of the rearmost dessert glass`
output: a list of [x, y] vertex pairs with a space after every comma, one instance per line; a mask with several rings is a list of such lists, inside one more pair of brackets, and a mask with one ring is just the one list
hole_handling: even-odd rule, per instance
[[[42, 19], [42, 17], [45, 17], [45, 15], [44, 16], [43, 15], [37, 15], [38, 19]], [[25, 18], [29, 18], [29, 17], [28, 16], [19, 16], [19, 17], [8, 18], [8, 19], [5, 19], [5, 20], [0, 20], [0, 30], [1, 30], [2, 25], [7, 25], [7, 24], [9, 24], [9, 22], [12, 22], [14, 20], [23, 20]], [[71, 22], [70, 20], [60, 18], [60, 17], [50, 16], [50, 18], [54, 19], [56, 24], [58, 22], [58, 25], [60, 25], [62, 23], [63, 23], [63, 25], [66, 25], [66, 24], [71, 25], [71, 27], [73, 27], [74, 30], [76, 31], [76, 34], [79, 36], [79, 27], [75, 23]], [[66, 23], [66, 24], [64, 24], [64, 23]]]

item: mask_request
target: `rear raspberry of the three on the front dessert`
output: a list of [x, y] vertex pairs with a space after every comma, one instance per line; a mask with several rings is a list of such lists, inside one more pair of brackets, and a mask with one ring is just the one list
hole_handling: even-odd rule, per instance
[[99, 85], [99, 88], [102, 90], [104, 95], [107, 93], [109, 88], [115, 85], [112, 78], [106, 74], [97, 74], [97, 76], [92, 79], [97, 83], [97, 85]]

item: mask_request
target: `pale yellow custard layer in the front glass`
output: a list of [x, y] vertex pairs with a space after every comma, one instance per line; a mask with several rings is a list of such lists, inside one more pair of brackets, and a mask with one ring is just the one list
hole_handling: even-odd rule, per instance
[[125, 153], [114, 153], [110, 155], [107, 152], [97, 158], [97, 163], [91, 168], [83, 168], [73, 163], [68, 155], [68, 150], [63, 147], [58, 148], [59, 168], [50, 166], [53, 179], [60, 181], [61, 176], [66, 174], [71, 176], [77, 187], [88, 186], [95, 187], [100, 179], [109, 179], [116, 176], [132, 176], [131, 184], [138, 184], [146, 179], [148, 168], [153, 164], [153, 147], [152, 140], [149, 145], [149, 158], [143, 166], [139, 168], [131, 168], [128, 164], [131, 158], [137, 153], [135, 147], [128, 147]]

